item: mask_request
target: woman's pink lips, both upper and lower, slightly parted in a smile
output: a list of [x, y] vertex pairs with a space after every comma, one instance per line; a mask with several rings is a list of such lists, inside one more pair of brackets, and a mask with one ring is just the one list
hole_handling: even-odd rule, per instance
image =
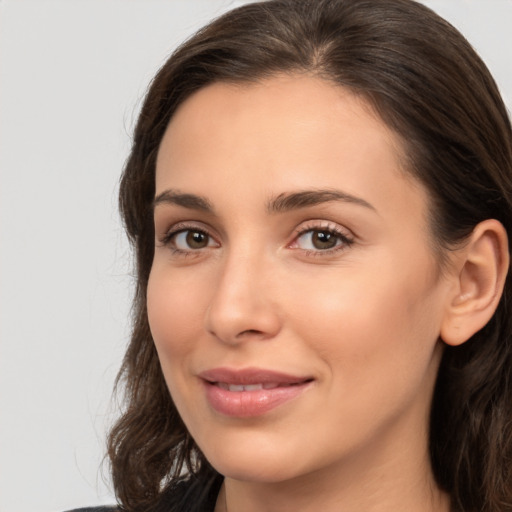
[[212, 408], [226, 416], [260, 416], [296, 398], [312, 377], [247, 368], [215, 368], [199, 374]]

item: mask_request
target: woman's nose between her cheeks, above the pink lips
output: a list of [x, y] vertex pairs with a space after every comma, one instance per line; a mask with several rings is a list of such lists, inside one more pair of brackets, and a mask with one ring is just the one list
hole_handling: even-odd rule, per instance
[[205, 328], [224, 343], [268, 340], [281, 329], [271, 268], [251, 256], [229, 256], [219, 269]]

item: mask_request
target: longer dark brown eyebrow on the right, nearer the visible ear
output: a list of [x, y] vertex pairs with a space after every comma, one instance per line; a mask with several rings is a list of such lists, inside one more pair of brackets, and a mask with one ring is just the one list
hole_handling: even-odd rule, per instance
[[377, 212], [375, 207], [368, 201], [335, 189], [304, 190], [300, 192], [279, 194], [277, 197], [269, 201], [267, 204], [267, 210], [269, 213], [281, 213], [331, 201], [342, 201], [345, 203], [357, 204]]

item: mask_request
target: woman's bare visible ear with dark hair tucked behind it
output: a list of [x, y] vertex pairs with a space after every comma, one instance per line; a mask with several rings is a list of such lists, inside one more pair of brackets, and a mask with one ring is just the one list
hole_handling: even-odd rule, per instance
[[461, 345], [489, 322], [498, 307], [509, 268], [507, 232], [499, 221], [485, 220], [454, 256], [454, 286], [440, 336], [448, 345]]

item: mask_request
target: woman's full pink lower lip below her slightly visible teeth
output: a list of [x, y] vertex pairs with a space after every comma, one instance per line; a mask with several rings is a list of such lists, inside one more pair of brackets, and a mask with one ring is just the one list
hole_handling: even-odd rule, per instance
[[293, 400], [309, 388], [311, 381], [291, 386], [256, 391], [229, 391], [205, 381], [206, 397], [217, 412], [225, 416], [251, 418], [261, 416]]

